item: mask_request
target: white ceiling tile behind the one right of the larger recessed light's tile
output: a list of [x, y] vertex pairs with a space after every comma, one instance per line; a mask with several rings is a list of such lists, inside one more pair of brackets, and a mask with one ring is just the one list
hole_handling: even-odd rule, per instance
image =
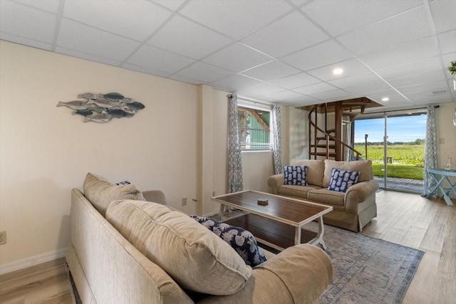
[[376, 72], [386, 80], [391, 78], [400, 78], [404, 76], [404, 71], [407, 75], [422, 74], [433, 72], [441, 68], [440, 59], [438, 57], [426, 58], [421, 61], [415, 61], [412, 63], [404, 63], [395, 65], [390, 68], [382, 68], [376, 70]]

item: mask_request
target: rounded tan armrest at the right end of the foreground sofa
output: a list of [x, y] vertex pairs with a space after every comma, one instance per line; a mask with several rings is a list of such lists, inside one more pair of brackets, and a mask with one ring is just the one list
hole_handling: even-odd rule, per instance
[[318, 303], [332, 279], [329, 256], [317, 246], [301, 244], [255, 267], [238, 293], [209, 296], [198, 303]]

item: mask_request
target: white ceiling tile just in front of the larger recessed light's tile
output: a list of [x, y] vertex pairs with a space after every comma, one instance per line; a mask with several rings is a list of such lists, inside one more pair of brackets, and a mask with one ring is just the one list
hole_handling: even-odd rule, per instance
[[301, 68], [301, 70], [311, 70], [349, 58], [353, 58], [350, 52], [330, 40], [289, 56], [284, 56], [281, 59], [297, 68]]

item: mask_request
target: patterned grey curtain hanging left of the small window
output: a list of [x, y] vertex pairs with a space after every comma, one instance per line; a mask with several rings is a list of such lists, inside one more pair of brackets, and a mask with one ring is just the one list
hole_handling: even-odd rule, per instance
[[242, 191], [242, 156], [237, 120], [237, 95], [228, 96], [228, 193]]

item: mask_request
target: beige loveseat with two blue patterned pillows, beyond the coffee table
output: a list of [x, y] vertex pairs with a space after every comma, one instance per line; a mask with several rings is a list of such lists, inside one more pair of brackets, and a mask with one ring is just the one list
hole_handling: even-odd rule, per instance
[[[333, 211], [323, 216], [325, 224], [351, 231], [360, 231], [377, 216], [375, 192], [378, 182], [373, 179], [371, 160], [338, 162], [330, 159], [293, 159], [291, 166], [306, 166], [307, 186], [284, 184], [284, 174], [267, 180], [269, 192], [283, 196], [306, 199], [333, 206]], [[358, 183], [347, 191], [328, 190], [333, 168], [360, 172]]]

